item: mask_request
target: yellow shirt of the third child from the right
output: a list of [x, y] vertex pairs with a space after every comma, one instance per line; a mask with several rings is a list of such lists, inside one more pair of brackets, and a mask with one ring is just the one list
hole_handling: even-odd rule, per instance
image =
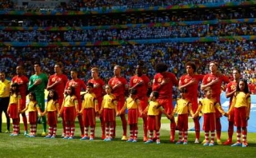
[[175, 113], [185, 114], [189, 112], [190, 114], [193, 114], [190, 101], [187, 101], [186, 99], [178, 99], [172, 116], [174, 116]]

